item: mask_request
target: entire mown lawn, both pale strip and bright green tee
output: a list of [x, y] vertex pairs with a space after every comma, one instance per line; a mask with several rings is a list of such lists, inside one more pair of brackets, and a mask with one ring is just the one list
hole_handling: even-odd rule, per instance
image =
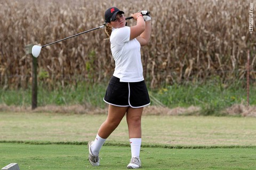
[[[126, 169], [131, 152], [125, 118], [103, 146], [101, 166], [87, 160], [86, 143], [105, 119], [0, 112], [0, 166]], [[143, 116], [142, 169], [256, 169], [255, 124], [244, 117]]]

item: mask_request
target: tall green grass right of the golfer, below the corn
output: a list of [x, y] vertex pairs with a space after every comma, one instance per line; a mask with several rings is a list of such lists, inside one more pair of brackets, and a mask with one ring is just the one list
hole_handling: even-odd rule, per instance
[[[256, 104], [256, 88], [251, 85], [250, 104]], [[218, 115], [219, 111], [237, 103], [246, 103], [247, 91], [245, 84], [233, 82], [219, 84], [214, 81], [205, 84], [187, 84], [163, 87], [155, 97], [165, 106], [189, 107], [199, 106], [202, 115]]]

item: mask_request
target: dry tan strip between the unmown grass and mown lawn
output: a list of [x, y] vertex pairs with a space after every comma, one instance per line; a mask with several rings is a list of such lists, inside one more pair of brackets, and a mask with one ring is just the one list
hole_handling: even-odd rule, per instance
[[[0, 104], [0, 111], [9, 112], [52, 112], [62, 114], [90, 114], [99, 115], [107, 114], [108, 108], [94, 108], [91, 106], [72, 105], [72, 106], [43, 106], [37, 107], [35, 110], [31, 110], [31, 107], [25, 106], [6, 106]], [[143, 115], [163, 115], [163, 116], [178, 116], [178, 115], [199, 115], [201, 111], [200, 107], [190, 106], [188, 108], [167, 108], [162, 106], [147, 106], [143, 110]], [[244, 117], [256, 117], [256, 106], [245, 106], [244, 104], [234, 104], [233, 106], [222, 110], [223, 114], [231, 116], [244, 116]]]

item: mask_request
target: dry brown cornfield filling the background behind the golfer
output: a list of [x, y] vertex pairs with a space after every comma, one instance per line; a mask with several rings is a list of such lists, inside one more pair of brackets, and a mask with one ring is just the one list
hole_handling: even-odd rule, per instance
[[[31, 83], [31, 55], [25, 45], [45, 45], [103, 25], [110, 6], [126, 17], [149, 10], [152, 35], [142, 47], [144, 76], [151, 87], [203, 81], [222, 82], [246, 77], [250, 50], [250, 78], [256, 79], [256, 30], [249, 32], [252, 1], [0, 1], [0, 86], [26, 88]], [[254, 11], [256, 9], [254, 5]], [[254, 16], [255, 16], [254, 12]], [[254, 29], [255, 27], [254, 17]], [[134, 21], [127, 21], [129, 26]], [[103, 29], [42, 49], [38, 78], [48, 86], [100, 82], [113, 74], [114, 60]]]

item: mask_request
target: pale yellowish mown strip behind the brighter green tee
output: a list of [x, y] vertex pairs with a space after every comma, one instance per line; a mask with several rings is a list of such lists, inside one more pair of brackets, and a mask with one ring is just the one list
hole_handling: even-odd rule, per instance
[[[0, 112], [0, 141], [94, 140], [107, 115]], [[142, 144], [255, 145], [256, 118], [142, 116]], [[107, 142], [129, 144], [126, 118]]]

